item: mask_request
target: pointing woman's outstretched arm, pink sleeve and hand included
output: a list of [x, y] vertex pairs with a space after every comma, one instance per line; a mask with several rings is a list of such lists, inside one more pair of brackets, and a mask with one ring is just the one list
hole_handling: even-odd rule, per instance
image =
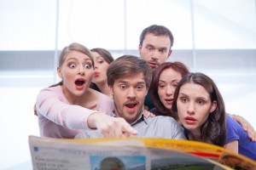
[[46, 88], [38, 94], [36, 106], [38, 114], [69, 129], [97, 128], [104, 137], [125, 137], [137, 134], [123, 118], [108, 116], [79, 105], [70, 105], [58, 91]]

